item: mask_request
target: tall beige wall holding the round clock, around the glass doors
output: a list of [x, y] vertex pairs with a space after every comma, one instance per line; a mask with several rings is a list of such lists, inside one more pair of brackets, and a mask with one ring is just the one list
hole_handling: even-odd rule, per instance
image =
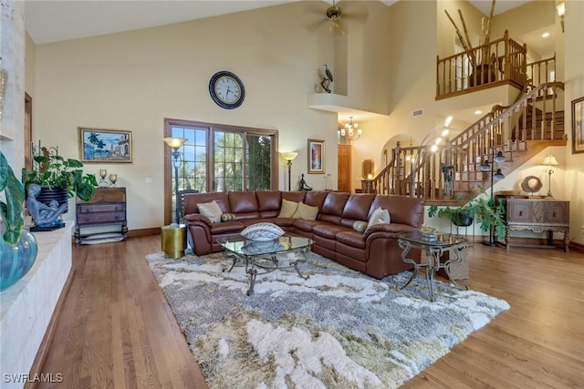
[[[90, 173], [118, 174], [128, 191], [130, 230], [162, 225], [164, 118], [277, 129], [279, 149], [299, 152], [293, 178], [307, 173], [307, 139], [325, 139], [325, 169], [336, 183], [337, 115], [307, 107], [318, 69], [331, 63], [332, 37], [327, 28], [308, 32], [298, 23], [304, 6], [36, 46], [36, 139], [78, 158], [78, 126], [132, 131], [133, 163], [86, 164]], [[209, 97], [210, 77], [224, 69], [245, 83], [237, 109]], [[282, 160], [276, 169], [284, 189]], [[305, 179], [324, 189], [324, 177]]]

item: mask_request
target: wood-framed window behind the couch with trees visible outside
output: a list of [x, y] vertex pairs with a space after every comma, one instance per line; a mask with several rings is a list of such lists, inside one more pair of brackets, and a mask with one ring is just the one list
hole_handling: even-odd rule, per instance
[[[277, 131], [165, 119], [164, 137], [186, 138], [178, 189], [197, 192], [277, 188]], [[175, 170], [165, 147], [165, 223], [175, 210]]]

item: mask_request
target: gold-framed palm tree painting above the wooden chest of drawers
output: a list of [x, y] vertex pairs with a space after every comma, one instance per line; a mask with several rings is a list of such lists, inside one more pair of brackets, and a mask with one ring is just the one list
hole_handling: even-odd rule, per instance
[[131, 131], [78, 127], [81, 162], [132, 161]]

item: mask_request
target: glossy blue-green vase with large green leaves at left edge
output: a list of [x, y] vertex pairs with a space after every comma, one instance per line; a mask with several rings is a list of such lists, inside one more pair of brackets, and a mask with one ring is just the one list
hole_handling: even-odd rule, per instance
[[36, 240], [24, 230], [25, 189], [0, 151], [0, 291], [20, 280], [36, 260]]

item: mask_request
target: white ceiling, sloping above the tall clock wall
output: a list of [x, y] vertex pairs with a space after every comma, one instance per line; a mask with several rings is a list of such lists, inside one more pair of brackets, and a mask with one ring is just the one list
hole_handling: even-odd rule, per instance
[[[28, 35], [40, 45], [169, 25], [295, 1], [300, 0], [26, 0], [25, 25]], [[398, 0], [381, 1], [392, 5]], [[498, 0], [495, 3], [495, 14], [529, 1], [533, 0]], [[328, 0], [328, 3], [332, 3], [332, 0]], [[488, 15], [491, 0], [471, 0], [470, 3]]]

